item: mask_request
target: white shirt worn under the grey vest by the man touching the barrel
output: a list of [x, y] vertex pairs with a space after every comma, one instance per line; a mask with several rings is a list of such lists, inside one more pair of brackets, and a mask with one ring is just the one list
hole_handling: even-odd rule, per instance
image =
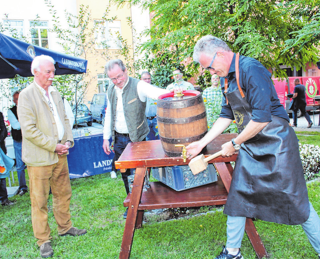
[[[124, 108], [123, 108], [123, 101], [122, 101], [122, 93], [124, 88], [128, 85], [129, 82], [129, 77], [127, 82], [125, 83], [124, 87], [120, 89], [118, 86], [114, 85], [113, 87], [116, 89], [116, 95], [118, 98], [117, 101], [117, 106], [116, 106], [116, 121], [115, 121], [115, 131], [119, 133], [129, 133], [127, 123], [125, 121], [124, 117]], [[161, 94], [165, 93], [170, 93], [170, 91], [162, 89], [162, 88], [157, 88], [155, 86], [152, 86], [143, 80], [140, 80], [137, 84], [137, 91], [139, 95], [139, 99], [142, 102], [145, 102], [147, 97], [152, 98], [152, 99], [158, 99], [158, 97]], [[106, 115], [104, 118], [104, 126], [103, 126], [103, 139], [109, 140], [111, 137], [111, 128], [110, 128], [110, 123], [111, 123], [111, 105], [109, 101], [109, 97], [107, 95], [107, 110], [106, 110]], [[145, 111], [138, 111], [138, 112], [143, 112]]]

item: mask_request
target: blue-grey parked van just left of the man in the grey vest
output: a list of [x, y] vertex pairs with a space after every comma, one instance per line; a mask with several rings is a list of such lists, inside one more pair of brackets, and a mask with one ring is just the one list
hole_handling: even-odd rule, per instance
[[104, 125], [104, 116], [107, 109], [107, 93], [96, 93], [92, 97], [90, 104], [90, 111], [92, 113], [93, 122], [98, 121]]

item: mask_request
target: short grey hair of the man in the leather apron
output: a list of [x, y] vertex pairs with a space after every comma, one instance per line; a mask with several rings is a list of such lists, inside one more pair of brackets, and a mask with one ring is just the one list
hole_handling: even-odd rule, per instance
[[193, 61], [199, 62], [200, 55], [206, 54], [208, 56], [213, 56], [217, 51], [231, 51], [227, 43], [223, 40], [212, 36], [206, 35], [199, 39], [194, 47]]

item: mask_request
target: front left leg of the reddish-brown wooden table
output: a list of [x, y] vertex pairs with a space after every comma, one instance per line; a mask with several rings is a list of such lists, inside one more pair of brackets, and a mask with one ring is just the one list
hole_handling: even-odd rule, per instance
[[119, 259], [129, 259], [132, 247], [134, 230], [138, 218], [138, 207], [141, 200], [144, 176], [146, 168], [137, 168], [133, 180], [133, 187], [128, 208], [128, 215], [125, 221], [122, 244], [120, 248]]

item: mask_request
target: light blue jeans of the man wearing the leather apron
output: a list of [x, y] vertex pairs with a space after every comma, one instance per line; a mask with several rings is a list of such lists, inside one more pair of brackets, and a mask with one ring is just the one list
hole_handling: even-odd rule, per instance
[[[312, 204], [309, 202], [310, 214], [302, 229], [306, 233], [310, 244], [320, 254], [320, 219]], [[231, 217], [227, 219], [227, 244], [226, 247], [240, 248], [244, 235], [245, 217]]]

